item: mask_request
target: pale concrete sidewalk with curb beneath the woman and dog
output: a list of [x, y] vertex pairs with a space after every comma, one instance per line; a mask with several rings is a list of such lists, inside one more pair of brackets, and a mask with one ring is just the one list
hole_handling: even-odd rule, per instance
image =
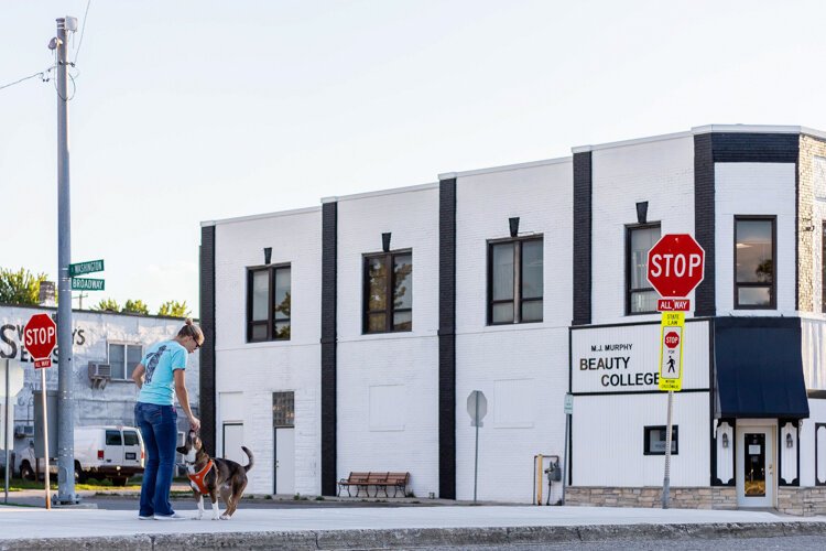
[[[180, 510], [195, 515], [195, 507]], [[453, 506], [238, 510], [229, 521], [0, 506], [0, 549], [358, 549], [826, 534], [826, 517], [768, 511]]]

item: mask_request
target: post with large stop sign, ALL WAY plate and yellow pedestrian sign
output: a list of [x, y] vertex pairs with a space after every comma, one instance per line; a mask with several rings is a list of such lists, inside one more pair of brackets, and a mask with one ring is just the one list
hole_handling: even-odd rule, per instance
[[683, 343], [688, 293], [703, 281], [706, 252], [688, 234], [666, 234], [648, 255], [648, 279], [657, 293], [663, 313], [660, 331], [660, 390], [669, 392], [665, 425], [665, 473], [662, 507], [669, 508], [671, 493], [671, 440], [674, 391], [683, 389]]

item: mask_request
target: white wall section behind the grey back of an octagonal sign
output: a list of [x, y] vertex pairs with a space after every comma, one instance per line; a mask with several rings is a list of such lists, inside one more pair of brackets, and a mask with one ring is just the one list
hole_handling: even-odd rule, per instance
[[[457, 180], [458, 499], [471, 499], [474, 493], [475, 429], [466, 409], [472, 390], [488, 399], [479, 431], [479, 499], [530, 503], [533, 456], [562, 455], [572, 318], [572, 194], [570, 159]], [[487, 241], [509, 237], [508, 219], [514, 216], [520, 218], [520, 236], [544, 236], [543, 322], [487, 326]], [[552, 501], [556, 499], [554, 495]]]

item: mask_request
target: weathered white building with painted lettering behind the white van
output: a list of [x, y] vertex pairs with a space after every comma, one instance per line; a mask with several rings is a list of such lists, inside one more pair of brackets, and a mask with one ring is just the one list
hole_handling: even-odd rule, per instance
[[[41, 374], [25, 347], [23, 327], [34, 314], [54, 314], [55, 307], [0, 305], [0, 361], [9, 360], [12, 369], [22, 368], [22, 389], [12, 392], [10, 442], [18, 457], [25, 455], [34, 442], [35, 410], [41, 408]], [[152, 344], [174, 337], [184, 320], [115, 312], [74, 310], [72, 313], [74, 347], [73, 398], [75, 426], [134, 425], [138, 390], [131, 379], [134, 367]], [[52, 354], [52, 367], [45, 368], [50, 393], [57, 392], [59, 350]], [[188, 357], [186, 386], [197, 415], [199, 353]], [[0, 386], [4, 381], [0, 380]], [[4, 392], [3, 392], [4, 393]], [[4, 403], [4, 398], [0, 401]], [[0, 408], [0, 410], [3, 408]], [[3, 410], [4, 411], [4, 410]], [[4, 414], [4, 412], [2, 413]], [[0, 433], [2, 424], [0, 424]], [[56, 426], [56, 425], [55, 425]], [[178, 436], [187, 430], [186, 415], [178, 413]], [[52, 446], [52, 454], [56, 447]], [[4, 454], [0, 453], [0, 462]]]

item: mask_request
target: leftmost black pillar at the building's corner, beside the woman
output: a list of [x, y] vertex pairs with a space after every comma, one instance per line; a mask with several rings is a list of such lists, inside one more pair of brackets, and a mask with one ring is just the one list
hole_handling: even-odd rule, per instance
[[215, 226], [200, 228], [200, 329], [204, 332], [198, 379], [200, 439], [207, 450], [215, 451]]

